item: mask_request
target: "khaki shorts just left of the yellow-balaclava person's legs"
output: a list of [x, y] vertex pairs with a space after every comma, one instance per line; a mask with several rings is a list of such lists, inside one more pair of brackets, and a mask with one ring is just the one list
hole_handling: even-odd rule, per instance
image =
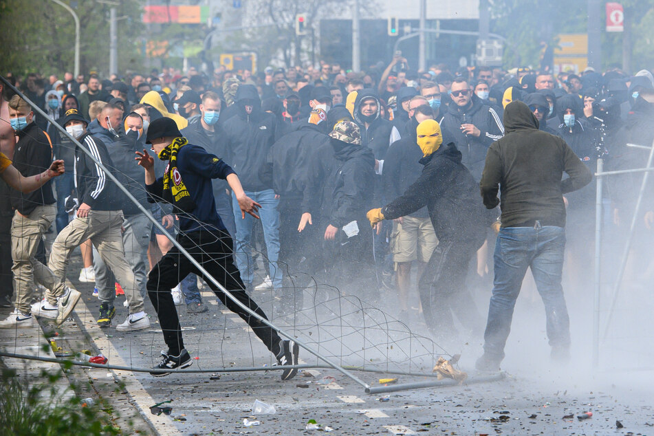
[[429, 218], [402, 217], [393, 222], [391, 252], [393, 262], [428, 262], [438, 246], [436, 232]]

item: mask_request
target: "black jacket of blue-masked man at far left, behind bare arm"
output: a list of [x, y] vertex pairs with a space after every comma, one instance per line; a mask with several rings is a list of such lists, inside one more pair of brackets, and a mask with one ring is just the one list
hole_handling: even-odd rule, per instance
[[[25, 129], [19, 131], [18, 142], [14, 149], [12, 165], [24, 177], [43, 173], [52, 162], [52, 148], [43, 130], [30, 122]], [[36, 206], [53, 204], [52, 180], [48, 180], [41, 188], [24, 194], [19, 190], [11, 190], [12, 207], [23, 215], [30, 215]]]

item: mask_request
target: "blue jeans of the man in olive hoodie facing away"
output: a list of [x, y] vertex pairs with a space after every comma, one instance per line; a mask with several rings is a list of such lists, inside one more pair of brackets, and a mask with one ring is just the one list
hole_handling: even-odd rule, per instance
[[531, 268], [547, 317], [547, 338], [552, 347], [569, 347], [570, 322], [561, 276], [565, 230], [543, 226], [501, 228], [494, 252], [494, 286], [484, 334], [484, 353], [504, 358], [516, 299], [527, 268]]

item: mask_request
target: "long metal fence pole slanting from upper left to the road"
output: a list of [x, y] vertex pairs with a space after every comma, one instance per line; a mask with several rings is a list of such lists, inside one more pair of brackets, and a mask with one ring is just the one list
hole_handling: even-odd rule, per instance
[[294, 338], [294, 337], [291, 336], [290, 334], [287, 334], [285, 331], [283, 331], [283, 330], [280, 329], [279, 327], [276, 327], [276, 325], [274, 325], [273, 323], [271, 323], [269, 320], [267, 320], [267, 319], [265, 319], [265, 318], [259, 316], [259, 314], [257, 314], [257, 312], [252, 312], [252, 310], [250, 309], [250, 307], [247, 307], [246, 305], [244, 305], [243, 303], [241, 303], [241, 302], [240, 302], [240, 301], [239, 301], [235, 296], [232, 295], [231, 292], [229, 292], [228, 290], [226, 290], [225, 287], [224, 287], [223, 285], [221, 285], [220, 283], [218, 283], [218, 281], [217, 281], [216, 279], [214, 279], [214, 277], [213, 277], [211, 274], [209, 274], [209, 273], [207, 272], [207, 270], [205, 270], [204, 267], [203, 267], [202, 265], [200, 265], [200, 263], [199, 263], [198, 261], [196, 261], [196, 260], [193, 258], [193, 256], [191, 256], [190, 254], [188, 254], [188, 252], [184, 249], [184, 247], [182, 247], [181, 245], [179, 245], [179, 242], [177, 242], [177, 240], [176, 240], [175, 238], [173, 238], [173, 237], [172, 237], [172, 236], [171, 236], [171, 235], [166, 231], [166, 229], [164, 228], [164, 226], [162, 226], [162, 225], [160, 224], [159, 221], [157, 221], [156, 219], [154, 219], [154, 217], [151, 215], [151, 213], [150, 213], [148, 210], [146, 210], [146, 208], [144, 208], [144, 207], [143, 207], [143, 206], [138, 202], [138, 200], [135, 199], [135, 198], [133, 197], [133, 195], [131, 195], [131, 193], [129, 193], [129, 190], [127, 190], [127, 188], [125, 188], [124, 186], [122, 186], [122, 184], [121, 184], [120, 182], [118, 182], [118, 179], [116, 179], [116, 177], [111, 173], [111, 171], [109, 171], [109, 170], [107, 169], [106, 166], [104, 166], [104, 165], [102, 164], [102, 162], [98, 161], [98, 160], [96, 159], [96, 157], [94, 157], [94, 155], [91, 154], [90, 151], [88, 151], [84, 146], [82, 146], [82, 144], [80, 144], [80, 143], [78, 142], [78, 140], [76, 140], [76, 139], [73, 138], [71, 135], [69, 135], [69, 133], [66, 131], [66, 129], [64, 129], [64, 128], [63, 128], [63, 127], [62, 127], [58, 122], [56, 122], [55, 120], [53, 120], [52, 118], [50, 118], [50, 116], [48, 116], [47, 113], [45, 113], [45, 112], [43, 111], [43, 109], [41, 109], [40, 107], [38, 107], [37, 105], [35, 105], [34, 102], [32, 102], [32, 100], [30, 100], [29, 98], [27, 98], [27, 97], [26, 97], [26, 96], [25, 96], [25, 95], [24, 95], [24, 94], [23, 94], [19, 89], [17, 89], [17, 87], [14, 87], [14, 85], [12, 85], [12, 84], [9, 82], [9, 80], [7, 80], [4, 76], [0, 76], [0, 81], [1, 81], [2, 83], [4, 83], [4, 84], [9, 88], [9, 89], [11, 89], [11, 90], [14, 91], [16, 94], [18, 94], [18, 95], [19, 95], [23, 100], [25, 100], [26, 102], [28, 102], [28, 104], [32, 107], [32, 109], [34, 109], [37, 113], [39, 113], [39, 115], [43, 116], [43, 118], [45, 118], [46, 120], [50, 121], [50, 123], [52, 123], [52, 125], [53, 125], [53, 126], [54, 126], [58, 131], [60, 131], [61, 133], [63, 133], [63, 135], [65, 135], [69, 140], [71, 140], [71, 141], [73, 142], [73, 144], [75, 144], [76, 146], [78, 146], [78, 147], [80, 148], [80, 150], [82, 150], [82, 151], [83, 151], [87, 156], [89, 156], [89, 157], [91, 158], [91, 160], [93, 160], [93, 162], [95, 162], [96, 165], [98, 165], [98, 166], [100, 167], [100, 169], [101, 169], [102, 171], [104, 171], [105, 174], [107, 174], [107, 177], [109, 177], [109, 179], [111, 179], [111, 181], [112, 181], [113, 183], [115, 183], [116, 186], [118, 186], [118, 188], [119, 188], [120, 190], [122, 190], [122, 193], [124, 193], [124, 195], [126, 195], [127, 198], [129, 198], [129, 200], [132, 201], [132, 202], [133, 202], [133, 203], [138, 207], [138, 209], [141, 211], [141, 213], [144, 214], [146, 217], [148, 217], [148, 219], [152, 222], [152, 224], [154, 224], [154, 226], [155, 226], [156, 228], [158, 228], [159, 230], [161, 230], [161, 231], [163, 232], [163, 235], [166, 235], [166, 237], [168, 237], [168, 239], [170, 239], [170, 241], [173, 243], [173, 246], [175, 246], [175, 247], [177, 248], [177, 250], [179, 250], [179, 252], [181, 252], [182, 254], [184, 254], [184, 257], [186, 257], [186, 259], [188, 259], [188, 261], [190, 261], [190, 263], [193, 263], [193, 265], [195, 266], [195, 268], [197, 268], [197, 269], [199, 270], [199, 272], [201, 272], [202, 274], [204, 274], [204, 276], [206, 276], [206, 278], [207, 278], [208, 280], [210, 280], [211, 283], [213, 283], [216, 287], [218, 287], [219, 290], [221, 290], [222, 292], [224, 292], [225, 295], [227, 296], [227, 298], [229, 298], [231, 301], [233, 301], [234, 303], [236, 303], [239, 307], [241, 307], [241, 309], [243, 309], [243, 310], [245, 310], [246, 312], [248, 312], [248, 314], [250, 314], [250, 316], [253, 316], [255, 319], [261, 321], [261, 322], [264, 323], [265, 325], [268, 325], [268, 327], [270, 327], [271, 329], [274, 329], [277, 333], [281, 334], [281, 336], [283, 336], [283, 337], [285, 337], [285, 338], [287, 338], [287, 339], [290, 339], [290, 340], [294, 340], [295, 342], [297, 342], [298, 345], [300, 345], [301, 347], [303, 347], [305, 350], [309, 351], [309, 353], [312, 353], [314, 356], [316, 356], [316, 357], [319, 358], [320, 360], [323, 360], [323, 362], [329, 364], [329, 366], [331, 366], [332, 368], [336, 369], [336, 371], [339, 371], [340, 373], [342, 373], [342, 374], [345, 375], [346, 377], [351, 378], [351, 380], [353, 380], [353, 381], [356, 382], [357, 384], [360, 384], [360, 386], [362, 386], [364, 389], [368, 389], [368, 388], [370, 387], [366, 382], [360, 380], [356, 375], [352, 374], [350, 371], [347, 371], [347, 369], [344, 369], [344, 368], [341, 367], [340, 365], [338, 365], [338, 364], [332, 362], [329, 358], [326, 358], [326, 357], [323, 356], [322, 354], [318, 353], [318, 351], [315, 351], [312, 347], [307, 346], [303, 340], [299, 340], [298, 338]]

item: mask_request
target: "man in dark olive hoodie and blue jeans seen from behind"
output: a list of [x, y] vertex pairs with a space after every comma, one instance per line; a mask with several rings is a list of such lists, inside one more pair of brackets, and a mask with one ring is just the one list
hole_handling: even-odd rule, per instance
[[[561, 286], [563, 194], [582, 188], [592, 177], [563, 139], [538, 131], [538, 120], [523, 102], [505, 107], [504, 127], [506, 135], [490, 146], [481, 177], [483, 204], [489, 209], [500, 204], [502, 210], [484, 353], [476, 364], [482, 371], [497, 371], [504, 358], [527, 268], [545, 305], [552, 357], [565, 360], [569, 356], [569, 318]], [[564, 171], [569, 175], [566, 179]], [[501, 200], [497, 198], [500, 188]]]

